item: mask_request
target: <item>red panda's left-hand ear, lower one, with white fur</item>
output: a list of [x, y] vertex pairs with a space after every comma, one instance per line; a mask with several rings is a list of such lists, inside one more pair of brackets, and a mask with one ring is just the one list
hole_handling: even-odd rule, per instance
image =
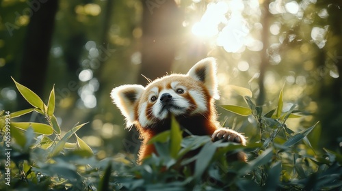
[[127, 128], [132, 126], [135, 121], [135, 104], [139, 102], [144, 90], [145, 88], [142, 85], [122, 85], [114, 88], [110, 93], [114, 104], [126, 117]]

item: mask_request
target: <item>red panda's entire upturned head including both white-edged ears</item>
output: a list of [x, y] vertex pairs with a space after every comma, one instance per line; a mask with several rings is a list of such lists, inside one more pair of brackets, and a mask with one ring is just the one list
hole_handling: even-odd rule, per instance
[[111, 91], [111, 98], [133, 123], [146, 128], [163, 119], [183, 115], [201, 115], [209, 109], [212, 98], [218, 98], [216, 65], [212, 58], [203, 59], [187, 74], [171, 74], [141, 85], [122, 85]]

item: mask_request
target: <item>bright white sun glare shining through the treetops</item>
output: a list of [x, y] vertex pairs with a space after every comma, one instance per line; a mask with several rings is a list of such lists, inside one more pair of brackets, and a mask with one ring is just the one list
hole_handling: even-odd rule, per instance
[[[255, 0], [249, 1], [253, 6], [248, 9], [259, 9]], [[254, 45], [258, 47], [250, 47], [250, 50], [260, 50], [262, 44], [251, 37], [248, 24], [242, 16], [244, 10], [244, 2], [239, 0], [209, 3], [200, 21], [192, 26], [192, 33], [199, 38], [212, 40], [228, 53], [238, 53], [246, 46]]]

